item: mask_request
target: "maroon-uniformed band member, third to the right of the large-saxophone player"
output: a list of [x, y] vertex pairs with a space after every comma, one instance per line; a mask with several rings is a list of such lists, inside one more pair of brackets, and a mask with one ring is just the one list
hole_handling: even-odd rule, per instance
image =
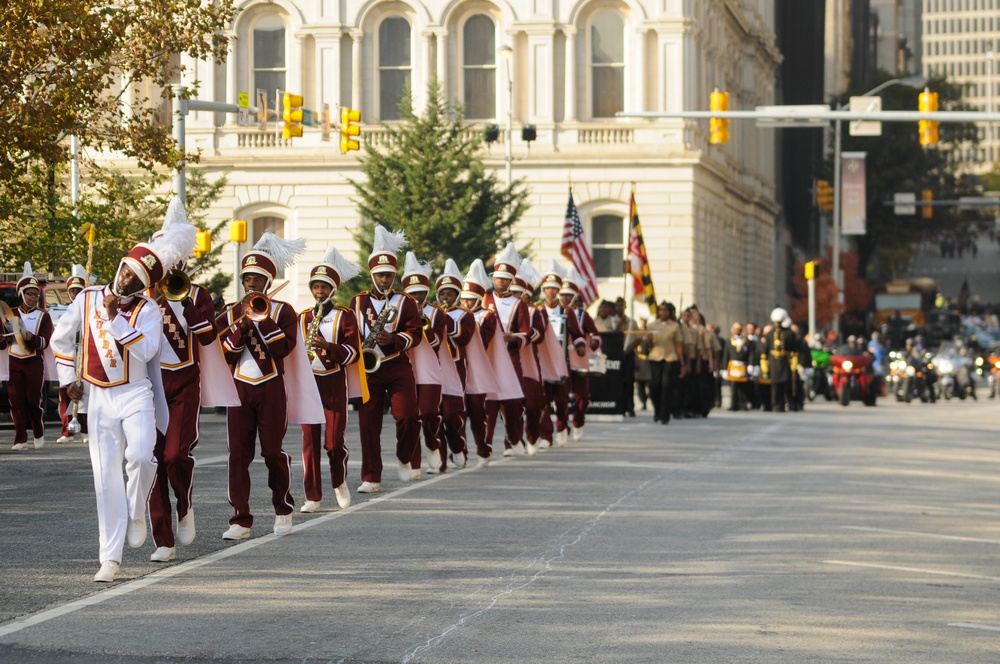
[[[493, 454], [493, 440], [489, 435], [487, 415], [490, 409], [489, 402], [516, 399], [519, 396], [523, 398], [524, 396], [520, 383], [517, 381], [517, 374], [510, 363], [506, 344], [494, 340], [497, 329], [500, 327], [497, 316], [482, 306], [483, 298], [486, 297], [487, 284], [489, 284], [489, 278], [486, 276], [486, 268], [483, 266], [483, 261], [477, 258], [472, 261], [469, 272], [465, 275], [459, 299], [462, 308], [471, 313], [476, 321], [479, 328], [479, 340], [489, 358], [487, 366], [491, 368], [495, 379], [493, 390], [483, 390], [479, 381], [477, 381], [479, 387], [473, 387], [468, 377], [466, 382], [465, 410], [468, 414], [469, 426], [472, 429], [472, 438], [476, 443], [476, 455], [479, 457], [478, 465], [480, 467], [488, 466]], [[470, 376], [478, 371], [478, 367], [473, 366], [472, 363], [468, 368]], [[486, 373], [484, 370], [483, 374]]]

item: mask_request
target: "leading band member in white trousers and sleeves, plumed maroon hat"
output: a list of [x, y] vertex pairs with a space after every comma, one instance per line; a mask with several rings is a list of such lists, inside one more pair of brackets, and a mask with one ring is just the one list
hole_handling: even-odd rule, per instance
[[[191, 244], [182, 244], [188, 238]], [[83, 397], [81, 380], [90, 384], [89, 449], [101, 560], [94, 581], [118, 576], [126, 539], [133, 548], [146, 541], [146, 502], [156, 478], [153, 449], [168, 415], [160, 382], [163, 319], [143, 291], [163, 278], [164, 265], [178, 263], [193, 248], [194, 235], [180, 233], [137, 244], [110, 285], [85, 288], [73, 300], [52, 337], [59, 383], [70, 399]], [[79, 375], [77, 333], [83, 335]]]

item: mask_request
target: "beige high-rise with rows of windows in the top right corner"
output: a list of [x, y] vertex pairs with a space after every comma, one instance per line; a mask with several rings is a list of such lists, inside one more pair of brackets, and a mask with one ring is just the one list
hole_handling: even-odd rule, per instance
[[[923, 0], [923, 74], [947, 76], [965, 89], [973, 109], [1000, 102], [1000, 0]], [[993, 123], [996, 125], [997, 123]], [[988, 171], [1000, 158], [1000, 130], [978, 123], [979, 147], [962, 148], [970, 172]]]

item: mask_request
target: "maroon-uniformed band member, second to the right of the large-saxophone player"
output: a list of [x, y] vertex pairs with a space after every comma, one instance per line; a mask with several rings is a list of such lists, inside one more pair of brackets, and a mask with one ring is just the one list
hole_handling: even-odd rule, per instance
[[[446, 457], [457, 468], [464, 468], [469, 458], [468, 442], [465, 437], [466, 411], [465, 400], [470, 385], [470, 368], [468, 354], [469, 345], [478, 342], [482, 351], [482, 341], [477, 333], [476, 320], [472, 314], [458, 306], [458, 296], [462, 292], [462, 273], [454, 260], [448, 259], [444, 271], [434, 285], [438, 302], [448, 322], [448, 332], [445, 343], [438, 347], [438, 358], [443, 370], [448, 361], [452, 361], [460, 381], [461, 392], [445, 393], [441, 397], [441, 429], [438, 435], [438, 451], [441, 457], [441, 472], [447, 468]], [[473, 348], [475, 344], [473, 344]], [[472, 382], [475, 382], [474, 377]], [[486, 391], [482, 392], [485, 398]], [[446, 454], [447, 452], [447, 454]]]

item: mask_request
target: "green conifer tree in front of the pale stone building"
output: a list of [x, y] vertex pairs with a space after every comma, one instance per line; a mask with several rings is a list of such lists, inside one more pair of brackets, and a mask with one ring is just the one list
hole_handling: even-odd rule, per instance
[[[438, 268], [448, 258], [465, 268], [492, 256], [512, 239], [512, 227], [528, 209], [523, 183], [508, 189], [486, 169], [481, 132], [463, 123], [457, 104], [449, 119], [436, 78], [420, 115], [409, 90], [399, 110], [401, 122], [383, 124], [378, 145], [365, 138], [359, 159], [365, 179], [350, 181], [362, 216], [354, 234], [360, 256], [371, 252], [375, 224], [405, 231], [409, 249]], [[342, 297], [351, 294], [351, 285], [345, 286]]]

